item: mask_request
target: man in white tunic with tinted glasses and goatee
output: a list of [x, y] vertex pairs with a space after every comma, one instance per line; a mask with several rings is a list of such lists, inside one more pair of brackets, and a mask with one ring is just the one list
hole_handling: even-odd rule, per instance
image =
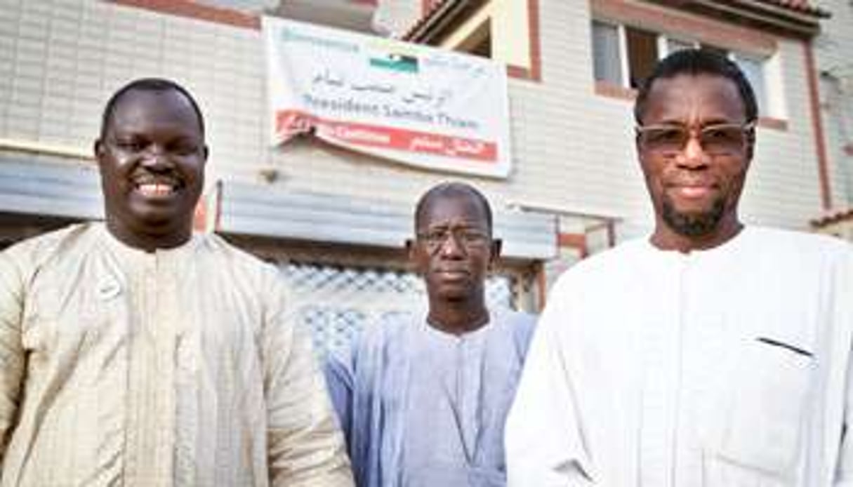
[[568, 270], [507, 423], [514, 486], [853, 485], [853, 252], [745, 226], [757, 107], [708, 51], [635, 104], [652, 235]]

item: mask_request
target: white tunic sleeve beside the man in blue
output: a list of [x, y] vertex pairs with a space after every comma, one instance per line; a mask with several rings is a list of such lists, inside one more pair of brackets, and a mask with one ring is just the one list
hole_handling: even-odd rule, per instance
[[507, 419], [505, 444], [511, 487], [595, 485], [583, 448], [576, 392], [557, 333], [566, 321], [565, 306], [557, 288], [554, 291], [537, 324]]

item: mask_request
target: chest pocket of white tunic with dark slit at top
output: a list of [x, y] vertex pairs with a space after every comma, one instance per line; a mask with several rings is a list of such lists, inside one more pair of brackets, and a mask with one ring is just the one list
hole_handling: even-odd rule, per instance
[[711, 461], [711, 477], [722, 478], [710, 484], [792, 484], [804, 449], [814, 357], [797, 345], [759, 337], [742, 345], [735, 360]]

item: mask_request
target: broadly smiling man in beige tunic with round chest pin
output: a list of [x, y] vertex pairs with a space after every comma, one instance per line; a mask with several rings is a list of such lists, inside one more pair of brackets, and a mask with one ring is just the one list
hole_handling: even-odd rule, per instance
[[192, 233], [193, 98], [128, 84], [95, 153], [106, 223], [0, 253], [0, 484], [351, 485], [275, 268]]

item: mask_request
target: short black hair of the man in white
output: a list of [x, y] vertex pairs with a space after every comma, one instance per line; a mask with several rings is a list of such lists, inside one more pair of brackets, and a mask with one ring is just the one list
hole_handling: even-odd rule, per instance
[[743, 101], [746, 122], [752, 122], [758, 118], [755, 92], [737, 64], [715, 50], [682, 49], [666, 56], [654, 67], [652, 74], [641, 83], [634, 103], [634, 119], [637, 125], [642, 125], [648, 94], [651, 92], [654, 82], [661, 78], [675, 78], [681, 74], [692, 76], [710, 74], [731, 80], [737, 86], [740, 100]]

